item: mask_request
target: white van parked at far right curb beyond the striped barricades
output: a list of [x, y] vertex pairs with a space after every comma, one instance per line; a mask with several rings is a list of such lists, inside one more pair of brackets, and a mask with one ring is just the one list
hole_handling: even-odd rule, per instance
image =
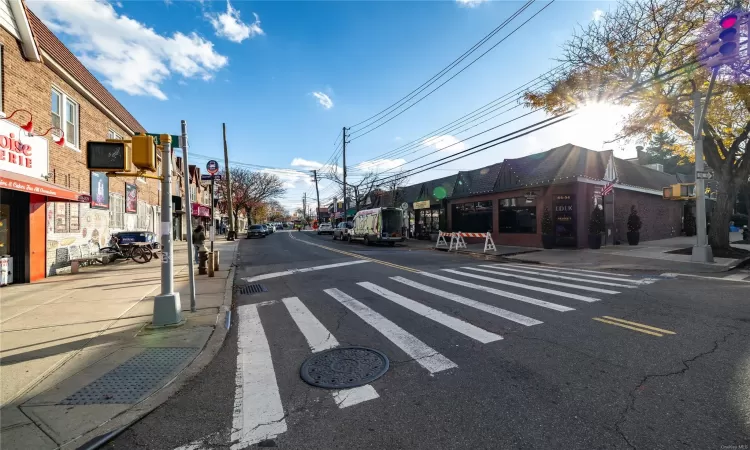
[[403, 211], [398, 208], [373, 208], [359, 211], [349, 232], [350, 240], [363, 241], [366, 245], [387, 242], [391, 246], [403, 242], [401, 231]]

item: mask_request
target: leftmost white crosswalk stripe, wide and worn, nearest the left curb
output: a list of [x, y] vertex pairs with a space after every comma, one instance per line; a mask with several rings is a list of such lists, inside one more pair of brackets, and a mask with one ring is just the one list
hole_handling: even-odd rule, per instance
[[284, 407], [257, 305], [237, 308], [237, 380], [232, 419], [232, 450], [286, 432]]

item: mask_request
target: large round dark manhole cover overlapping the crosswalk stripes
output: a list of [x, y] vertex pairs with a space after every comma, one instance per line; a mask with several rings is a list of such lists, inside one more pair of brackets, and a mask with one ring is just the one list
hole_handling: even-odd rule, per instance
[[302, 363], [305, 382], [327, 389], [363, 386], [388, 371], [388, 357], [365, 347], [341, 347], [317, 353]]

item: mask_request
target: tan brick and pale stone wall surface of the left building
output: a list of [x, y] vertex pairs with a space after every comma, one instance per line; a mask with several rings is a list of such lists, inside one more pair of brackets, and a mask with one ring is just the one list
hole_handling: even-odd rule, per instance
[[[0, 28], [0, 40], [3, 45], [3, 104], [2, 110], [10, 115], [17, 109], [25, 109], [33, 114], [34, 130], [43, 133], [52, 126], [51, 92], [53, 87], [79, 105], [79, 142], [78, 149], [68, 143], [59, 146], [49, 139], [49, 182], [65, 186], [76, 192], [90, 194], [90, 174], [86, 169], [86, 142], [103, 141], [110, 130], [120, 136], [127, 137], [129, 133], [119, 127], [102, 110], [89, 102], [84, 95], [76, 91], [44, 63], [27, 61], [20, 48], [20, 43], [5, 29]], [[63, 104], [64, 107], [64, 104]], [[28, 115], [17, 114], [13, 122], [25, 124]], [[66, 137], [67, 138], [67, 137]], [[67, 141], [67, 139], [66, 139]], [[159, 185], [157, 180], [147, 179], [145, 182], [130, 178], [110, 178], [109, 192], [125, 194], [125, 183], [134, 184], [138, 190], [138, 200], [148, 207], [151, 219], [148, 225], [151, 231], [158, 228], [158, 219], [154, 220], [156, 207], [160, 203]], [[60, 269], [55, 264], [56, 257], [66, 246], [88, 243], [92, 238], [99, 244], [109, 240], [110, 229], [109, 211], [91, 209], [87, 204], [79, 206], [78, 227], [75, 231], [57, 232], [54, 224], [55, 204], [47, 204], [47, 261], [48, 273], [54, 274]], [[67, 210], [68, 217], [70, 211]], [[137, 229], [139, 225], [136, 214], [125, 214], [124, 229]], [[142, 224], [141, 224], [142, 225]]]

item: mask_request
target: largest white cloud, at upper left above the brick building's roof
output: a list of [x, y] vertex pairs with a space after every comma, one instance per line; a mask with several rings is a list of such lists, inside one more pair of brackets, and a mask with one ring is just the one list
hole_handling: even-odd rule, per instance
[[29, 6], [52, 32], [73, 38], [70, 47], [87, 68], [131, 95], [166, 100], [161, 85], [172, 73], [205, 81], [228, 63], [195, 32], [160, 35], [103, 0]]

